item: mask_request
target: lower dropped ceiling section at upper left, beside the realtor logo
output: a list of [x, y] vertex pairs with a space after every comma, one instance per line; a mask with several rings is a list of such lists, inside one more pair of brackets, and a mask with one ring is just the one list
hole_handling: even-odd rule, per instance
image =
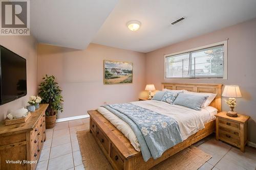
[[40, 43], [84, 49], [118, 0], [30, 1], [30, 31]]

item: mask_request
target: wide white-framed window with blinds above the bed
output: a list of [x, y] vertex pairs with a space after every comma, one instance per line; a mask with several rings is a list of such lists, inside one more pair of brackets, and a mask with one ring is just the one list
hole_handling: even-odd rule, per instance
[[226, 42], [165, 55], [165, 79], [226, 79]]

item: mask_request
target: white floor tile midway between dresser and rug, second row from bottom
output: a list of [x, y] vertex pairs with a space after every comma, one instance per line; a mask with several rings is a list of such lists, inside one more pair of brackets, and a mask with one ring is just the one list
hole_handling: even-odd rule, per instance
[[71, 143], [57, 145], [51, 148], [50, 159], [72, 153]]

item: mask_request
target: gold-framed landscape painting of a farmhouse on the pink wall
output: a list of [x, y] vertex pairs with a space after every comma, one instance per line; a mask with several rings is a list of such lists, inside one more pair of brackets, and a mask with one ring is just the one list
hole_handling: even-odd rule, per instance
[[133, 83], [133, 63], [104, 60], [104, 84]]

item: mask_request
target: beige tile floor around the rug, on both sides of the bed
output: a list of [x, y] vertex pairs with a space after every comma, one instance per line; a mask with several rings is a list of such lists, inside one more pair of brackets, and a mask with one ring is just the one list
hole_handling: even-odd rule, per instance
[[[76, 131], [86, 129], [89, 129], [89, 118], [57, 123], [54, 129], [47, 130], [47, 140], [36, 170], [84, 169]], [[227, 143], [215, 140], [214, 135], [194, 145], [212, 156], [200, 170], [256, 169], [256, 149], [246, 147], [246, 152], [242, 153]]]

